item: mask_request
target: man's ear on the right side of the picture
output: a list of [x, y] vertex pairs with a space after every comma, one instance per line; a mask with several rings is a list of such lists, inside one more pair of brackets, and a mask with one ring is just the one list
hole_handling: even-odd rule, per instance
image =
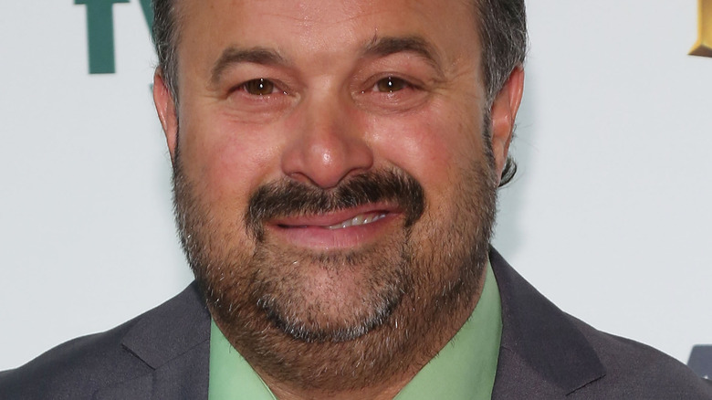
[[495, 156], [495, 172], [497, 185], [502, 176], [502, 170], [507, 162], [509, 143], [514, 132], [514, 120], [521, 103], [524, 91], [524, 68], [518, 66], [509, 75], [504, 87], [499, 90], [492, 102], [490, 118], [492, 122], [492, 152]]

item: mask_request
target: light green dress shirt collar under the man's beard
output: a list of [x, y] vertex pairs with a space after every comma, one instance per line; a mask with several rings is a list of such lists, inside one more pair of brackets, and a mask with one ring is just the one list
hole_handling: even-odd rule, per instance
[[[472, 316], [395, 400], [489, 399], [495, 384], [502, 312], [492, 267]], [[259, 375], [211, 323], [209, 400], [276, 400]]]

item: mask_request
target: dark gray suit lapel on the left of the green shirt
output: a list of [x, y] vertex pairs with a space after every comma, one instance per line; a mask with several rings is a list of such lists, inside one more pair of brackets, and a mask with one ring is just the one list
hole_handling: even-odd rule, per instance
[[100, 390], [95, 399], [207, 399], [210, 314], [195, 284], [146, 313], [121, 345], [152, 372]]

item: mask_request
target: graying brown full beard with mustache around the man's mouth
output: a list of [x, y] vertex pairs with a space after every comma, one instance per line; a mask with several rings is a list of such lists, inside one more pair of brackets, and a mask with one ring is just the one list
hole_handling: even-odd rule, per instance
[[[427, 203], [421, 184], [390, 169], [330, 190], [267, 183], [231, 219], [218, 217], [176, 152], [179, 234], [215, 323], [258, 374], [303, 389], [357, 390], [414, 374], [444, 344], [435, 338], [448, 332], [448, 341], [472, 311], [487, 263], [497, 180], [491, 152], [474, 158], [447, 204]], [[290, 246], [265, 229], [277, 217], [377, 203], [403, 217], [358, 248]]]

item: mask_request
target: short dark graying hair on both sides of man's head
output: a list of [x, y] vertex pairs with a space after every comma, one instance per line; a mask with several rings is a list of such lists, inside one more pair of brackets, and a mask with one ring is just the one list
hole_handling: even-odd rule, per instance
[[[152, 0], [153, 43], [158, 54], [158, 68], [178, 101], [176, 58], [180, 15], [180, 0]], [[482, 42], [482, 68], [485, 77], [487, 109], [504, 86], [514, 68], [524, 63], [527, 53], [527, 17], [524, 0], [474, 0], [479, 17], [479, 37]], [[507, 184], [517, 172], [517, 164], [508, 157], [500, 185]]]

